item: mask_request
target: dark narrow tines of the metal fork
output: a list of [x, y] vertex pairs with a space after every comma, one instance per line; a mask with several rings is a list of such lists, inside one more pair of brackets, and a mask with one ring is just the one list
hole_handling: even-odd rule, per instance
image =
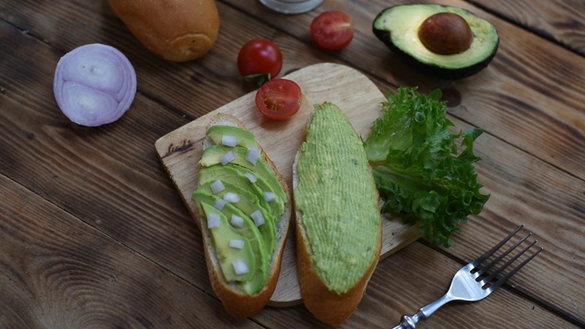
[[[537, 240], [528, 241], [532, 236], [531, 232], [528, 232], [524, 237], [516, 237], [516, 234], [522, 228], [524, 228], [524, 225], [516, 228], [514, 232], [495, 245], [494, 248], [471, 262], [473, 264], [471, 272], [474, 273], [476, 281], [481, 281], [483, 289], [494, 291], [542, 251], [543, 248], [537, 247], [537, 249], [527, 252], [536, 246]], [[505, 251], [501, 251], [500, 249], [504, 249], [505, 245], [511, 246]]]

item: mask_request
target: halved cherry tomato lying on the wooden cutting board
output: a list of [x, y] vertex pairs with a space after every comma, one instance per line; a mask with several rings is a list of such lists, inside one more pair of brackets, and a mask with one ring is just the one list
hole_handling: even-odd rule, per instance
[[293, 80], [270, 80], [256, 92], [256, 107], [273, 120], [292, 117], [301, 108], [302, 101], [303, 91]]

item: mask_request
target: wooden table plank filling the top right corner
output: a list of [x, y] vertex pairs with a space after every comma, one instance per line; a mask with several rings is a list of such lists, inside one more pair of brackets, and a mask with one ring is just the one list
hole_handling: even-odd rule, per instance
[[573, 0], [471, 2], [585, 56], [585, 2]]

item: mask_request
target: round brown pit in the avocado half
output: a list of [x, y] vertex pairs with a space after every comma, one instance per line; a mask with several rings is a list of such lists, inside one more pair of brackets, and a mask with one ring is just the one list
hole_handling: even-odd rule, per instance
[[425, 19], [419, 27], [419, 38], [435, 54], [454, 55], [469, 49], [473, 32], [462, 16], [445, 12]]

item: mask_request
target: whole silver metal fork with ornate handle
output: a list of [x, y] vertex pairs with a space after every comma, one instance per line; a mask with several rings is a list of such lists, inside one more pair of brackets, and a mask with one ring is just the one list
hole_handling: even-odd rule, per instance
[[[524, 228], [524, 225], [516, 228], [516, 230], [512, 232], [507, 238], [495, 245], [494, 248], [485, 252], [483, 256], [463, 266], [463, 268], [457, 271], [457, 273], [455, 273], [453, 276], [451, 287], [449, 287], [449, 291], [447, 293], [442, 295], [442, 297], [438, 300], [422, 306], [419, 309], [419, 312], [415, 313], [414, 315], [402, 316], [402, 322], [393, 329], [415, 329], [416, 324], [420, 320], [427, 319], [429, 316], [431, 316], [432, 313], [435, 313], [435, 311], [437, 311], [447, 302], [480, 301], [502, 286], [505, 281], [510, 279], [510, 277], [516, 273], [516, 271], [520, 270], [524, 265], [527, 264], [528, 261], [535, 258], [537, 254], [542, 251], [542, 248], [538, 248], [536, 251], [532, 251], [532, 254], [527, 256], [521, 263], [517, 264], [516, 267], [510, 267], [510, 265], [516, 262], [516, 260], [520, 259], [520, 257], [522, 257], [524, 254], [527, 254], [528, 249], [531, 249], [537, 244], [537, 240], [535, 239], [532, 243], [529, 243], [526, 246], [528, 243], [527, 239], [532, 235], [531, 232], [528, 232], [527, 236], [517, 240], [516, 243], [510, 242], [514, 244], [501, 254], [494, 256], [495, 252], [502, 248], [508, 241], [510, 241], [510, 239], [512, 239], [522, 228]], [[526, 247], [521, 247], [521, 245], [525, 245]], [[523, 249], [519, 251], [516, 250], [520, 248]], [[495, 265], [500, 262], [504, 262], [504, 264], [495, 267]], [[510, 267], [511, 270], [505, 272], [508, 267]], [[494, 271], [490, 271], [492, 268], [494, 268]]]

